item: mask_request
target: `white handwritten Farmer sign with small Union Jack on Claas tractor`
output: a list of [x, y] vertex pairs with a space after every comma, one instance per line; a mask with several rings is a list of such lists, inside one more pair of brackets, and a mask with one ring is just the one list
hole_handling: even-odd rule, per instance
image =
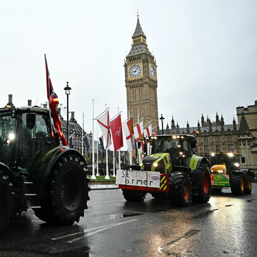
[[160, 188], [160, 172], [145, 170], [117, 170], [116, 184]]

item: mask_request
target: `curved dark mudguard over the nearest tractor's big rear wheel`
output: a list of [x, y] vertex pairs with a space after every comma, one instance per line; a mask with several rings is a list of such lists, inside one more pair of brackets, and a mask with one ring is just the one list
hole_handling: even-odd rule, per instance
[[46, 180], [53, 166], [58, 159], [61, 159], [62, 156], [67, 154], [76, 155], [87, 165], [86, 160], [77, 150], [66, 146], [53, 146], [42, 152], [31, 168], [30, 178], [33, 182], [33, 188], [37, 193], [38, 205], [40, 204], [40, 200], [45, 196]]

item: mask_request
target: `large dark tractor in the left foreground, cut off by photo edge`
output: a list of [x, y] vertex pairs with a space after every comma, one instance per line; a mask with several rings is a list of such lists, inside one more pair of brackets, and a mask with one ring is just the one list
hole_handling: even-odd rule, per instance
[[52, 225], [79, 222], [90, 199], [86, 165], [59, 146], [48, 109], [0, 108], [0, 232], [28, 208]]

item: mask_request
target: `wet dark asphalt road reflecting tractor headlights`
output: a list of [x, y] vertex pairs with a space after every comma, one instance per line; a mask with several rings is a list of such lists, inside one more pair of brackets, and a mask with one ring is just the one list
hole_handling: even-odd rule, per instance
[[0, 237], [0, 256], [257, 256], [257, 183], [208, 204], [170, 208], [150, 194], [126, 202], [120, 189], [90, 191], [79, 223], [49, 227], [30, 210]]

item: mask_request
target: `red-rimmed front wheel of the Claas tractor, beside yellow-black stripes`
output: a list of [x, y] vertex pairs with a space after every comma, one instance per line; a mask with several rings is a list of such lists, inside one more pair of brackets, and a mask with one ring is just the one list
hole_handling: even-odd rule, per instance
[[192, 198], [191, 180], [187, 173], [172, 172], [169, 176], [167, 198], [171, 206], [189, 206]]

